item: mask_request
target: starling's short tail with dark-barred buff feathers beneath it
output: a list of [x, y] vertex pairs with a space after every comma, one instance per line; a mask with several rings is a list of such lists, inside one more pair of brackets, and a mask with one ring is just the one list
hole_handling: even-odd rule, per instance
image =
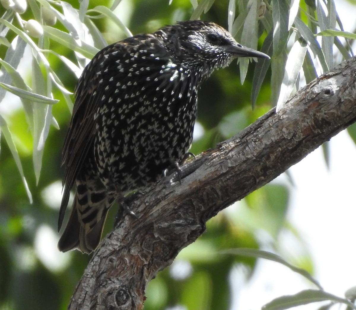
[[87, 184], [77, 184], [72, 211], [58, 241], [59, 251], [78, 249], [88, 254], [94, 251], [99, 245], [106, 216], [114, 200], [105, 191], [93, 193], [87, 190]]

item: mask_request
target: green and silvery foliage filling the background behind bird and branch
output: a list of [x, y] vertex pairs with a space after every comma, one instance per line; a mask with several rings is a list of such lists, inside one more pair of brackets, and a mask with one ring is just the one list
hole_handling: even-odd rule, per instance
[[[83, 254], [58, 253], [56, 223], [61, 147], [73, 108], [74, 85], [99, 49], [131, 32], [151, 32], [176, 20], [201, 18], [227, 26], [241, 44], [259, 46], [271, 56], [270, 63], [241, 59], [240, 75], [231, 65], [204, 83], [198, 107], [202, 134], [192, 146], [197, 154], [231, 137], [271, 106], [283, 105], [303, 77], [309, 83], [333, 68], [334, 49], [343, 58], [350, 57], [348, 41], [339, 37], [355, 40], [354, 34], [344, 31], [333, 0], [111, 2], [1, 1], [0, 309], [66, 309], [88, 263]], [[356, 141], [355, 132], [351, 127]], [[112, 227], [112, 209], [106, 231]], [[176, 304], [187, 309], [229, 309], [231, 268], [245, 266], [249, 278], [257, 257], [271, 259], [261, 251], [251, 254], [239, 248], [271, 248], [272, 240], [277, 251], [282, 230], [290, 230], [303, 244], [285, 219], [287, 209], [287, 188], [269, 184], [221, 212], [208, 223], [206, 233], [179, 254], [176, 263], [185, 264], [188, 272], [177, 275], [172, 266], [150, 283], [145, 309]], [[269, 238], [260, 240], [261, 230]], [[234, 248], [233, 255], [220, 252]], [[312, 272], [310, 257], [298, 267]], [[315, 290], [283, 296], [266, 309], [315, 300], [352, 308], [347, 300]]]

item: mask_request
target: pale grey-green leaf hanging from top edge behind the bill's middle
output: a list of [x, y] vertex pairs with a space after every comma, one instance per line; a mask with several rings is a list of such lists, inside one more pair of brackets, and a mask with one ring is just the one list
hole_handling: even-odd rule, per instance
[[[252, 1], [251, 7], [247, 13], [247, 17], [244, 22], [244, 29], [242, 30], [241, 44], [253, 49], [257, 49], [257, 1]], [[240, 64], [240, 80], [241, 84], [244, 84], [249, 58], [239, 58]]]

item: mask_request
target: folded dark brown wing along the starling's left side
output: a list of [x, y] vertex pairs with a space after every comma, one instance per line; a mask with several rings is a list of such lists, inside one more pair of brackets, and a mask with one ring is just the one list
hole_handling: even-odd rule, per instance
[[[114, 53], [117, 52], [117, 53]], [[58, 231], [62, 226], [70, 190], [73, 187], [95, 138], [95, 114], [103, 104], [104, 87], [98, 87], [106, 68], [111, 68], [113, 57], [125, 57], [127, 44], [116, 42], [102, 49], [84, 68], [75, 87], [75, 103], [72, 119], [62, 151], [64, 166], [63, 198], [58, 218]], [[114, 53], [114, 55], [113, 55]], [[112, 62], [112, 63], [110, 63]], [[118, 77], [120, 78], [120, 77]]]

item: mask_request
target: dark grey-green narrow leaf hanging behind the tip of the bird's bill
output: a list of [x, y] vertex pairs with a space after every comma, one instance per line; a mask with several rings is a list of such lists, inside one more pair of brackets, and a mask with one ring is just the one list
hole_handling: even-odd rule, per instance
[[[272, 56], [273, 54], [272, 38], [273, 38], [273, 31], [269, 31], [267, 37], [265, 38], [265, 41], [263, 41], [262, 48], [261, 48], [261, 52], [269, 56]], [[257, 96], [260, 93], [260, 89], [263, 80], [265, 79], [269, 67], [269, 63], [270, 61], [268, 59], [258, 59], [258, 62], [256, 63], [255, 72], [253, 73], [253, 79], [252, 79], [252, 92], [251, 92], [252, 109], [256, 105]]]

